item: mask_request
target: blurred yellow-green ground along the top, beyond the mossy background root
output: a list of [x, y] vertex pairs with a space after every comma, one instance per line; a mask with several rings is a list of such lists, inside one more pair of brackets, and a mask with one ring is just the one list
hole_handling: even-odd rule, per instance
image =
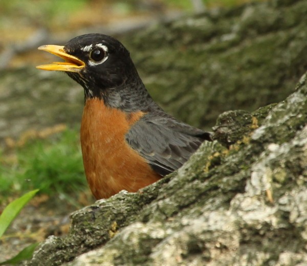
[[1, 1], [0, 69], [40, 62], [40, 53], [33, 49], [46, 41], [64, 43], [88, 32], [118, 35], [206, 9], [246, 2], [249, 0]]

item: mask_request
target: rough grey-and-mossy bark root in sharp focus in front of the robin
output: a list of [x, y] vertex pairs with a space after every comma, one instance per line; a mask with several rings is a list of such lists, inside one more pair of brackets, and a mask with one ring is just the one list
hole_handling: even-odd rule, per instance
[[304, 265], [307, 76], [267, 110], [230, 149], [206, 142], [160, 182], [75, 212], [70, 234], [49, 237], [29, 265], [82, 253], [64, 265]]

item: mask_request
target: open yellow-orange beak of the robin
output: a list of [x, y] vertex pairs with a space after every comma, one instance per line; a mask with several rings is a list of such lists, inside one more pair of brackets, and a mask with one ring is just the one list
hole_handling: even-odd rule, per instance
[[43, 45], [38, 47], [38, 50], [46, 51], [65, 60], [65, 62], [52, 62], [50, 64], [41, 64], [36, 66], [37, 69], [42, 70], [58, 70], [69, 72], [80, 72], [85, 67], [85, 63], [79, 58], [69, 55], [64, 51], [63, 46], [57, 45]]

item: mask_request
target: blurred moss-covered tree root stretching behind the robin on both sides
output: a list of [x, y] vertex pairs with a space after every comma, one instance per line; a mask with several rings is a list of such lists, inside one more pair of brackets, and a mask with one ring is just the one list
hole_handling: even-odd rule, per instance
[[[116, 37], [168, 113], [210, 129], [227, 110], [253, 112], [292, 92], [307, 68], [306, 13], [304, 0], [271, 0]], [[81, 87], [63, 73], [0, 72], [0, 140], [80, 123], [82, 106]]]

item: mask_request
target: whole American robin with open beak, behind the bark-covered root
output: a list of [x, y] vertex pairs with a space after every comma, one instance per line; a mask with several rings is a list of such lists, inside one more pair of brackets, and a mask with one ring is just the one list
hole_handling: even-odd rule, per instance
[[37, 66], [65, 71], [84, 88], [80, 139], [94, 196], [136, 192], [186, 162], [210, 133], [166, 114], [150, 97], [121, 42], [85, 34], [38, 48], [64, 59]]

